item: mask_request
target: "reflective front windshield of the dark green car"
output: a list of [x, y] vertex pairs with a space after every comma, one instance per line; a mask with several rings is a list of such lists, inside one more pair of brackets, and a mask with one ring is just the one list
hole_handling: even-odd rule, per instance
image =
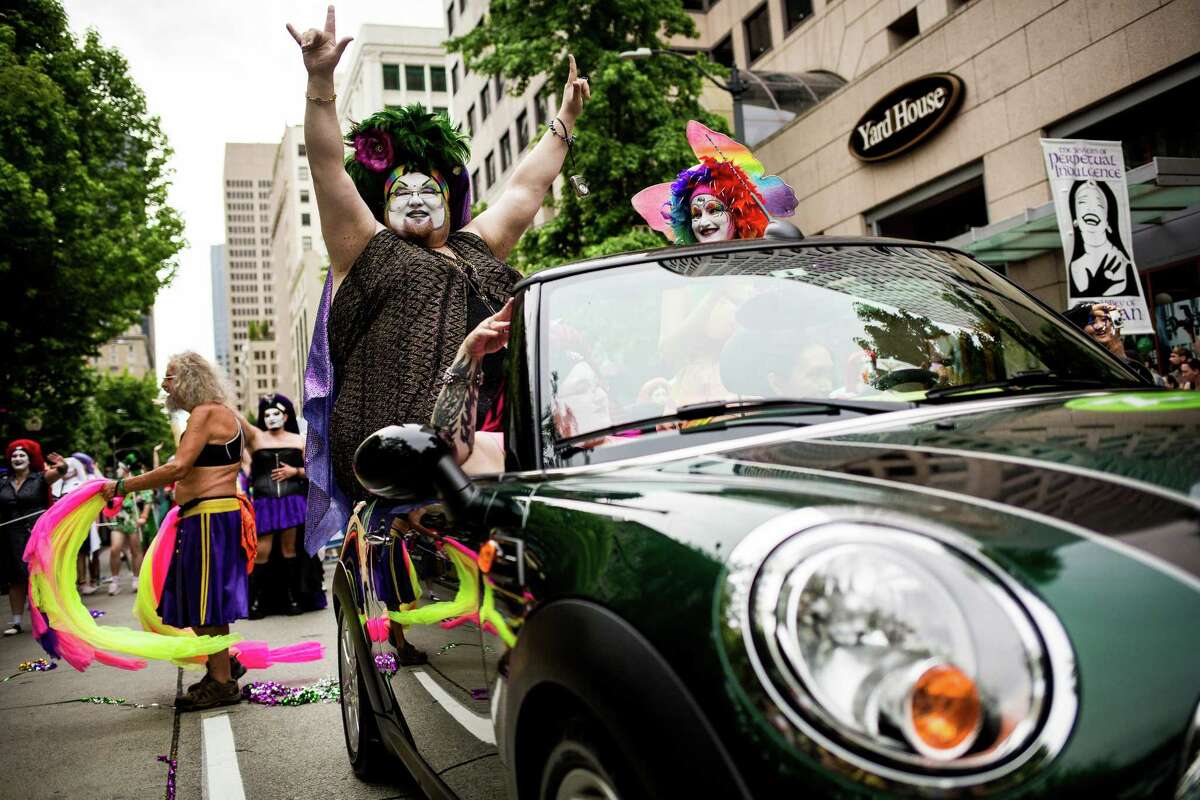
[[740, 249], [568, 276], [542, 287], [540, 336], [556, 440], [697, 403], [920, 402], [1038, 373], [1135, 380], [988, 267], [920, 247]]

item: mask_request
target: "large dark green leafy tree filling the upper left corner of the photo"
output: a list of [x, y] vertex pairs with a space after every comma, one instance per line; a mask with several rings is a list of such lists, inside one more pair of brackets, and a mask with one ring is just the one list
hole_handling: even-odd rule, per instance
[[85, 357], [151, 307], [184, 246], [169, 155], [120, 53], [76, 41], [56, 0], [5, 4], [0, 435], [86, 422]]

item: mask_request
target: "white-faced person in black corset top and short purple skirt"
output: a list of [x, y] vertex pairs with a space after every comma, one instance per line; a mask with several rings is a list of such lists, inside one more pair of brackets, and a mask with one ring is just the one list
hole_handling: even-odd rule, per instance
[[[268, 559], [278, 534], [283, 555], [283, 612], [299, 614], [305, 560], [296, 554], [296, 531], [304, 528], [308, 510], [308, 479], [304, 471], [304, 437], [296, 410], [283, 395], [265, 395], [258, 401], [258, 422], [244, 425], [250, 446], [250, 483], [254, 493], [254, 525], [258, 553], [250, 576], [250, 619], [265, 616], [264, 593]], [[276, 582], [277, 583], [277, 582]]]

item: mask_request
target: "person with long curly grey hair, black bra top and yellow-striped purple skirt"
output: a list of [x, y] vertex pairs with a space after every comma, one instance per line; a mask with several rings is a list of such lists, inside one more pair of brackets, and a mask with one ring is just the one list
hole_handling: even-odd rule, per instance
[[[196, 353], [172, 356], [162, 389], [168, 410], [190, 415], [175, 458], [149, 473], [107, 481], [103, 495], [109, 500], [175, 485], [179, 528], [158, 614], [199, 636], [224, 636], [230, 622], [246, 619], [247, 540], [253, 549], [253, 525], [244, 531], [238, 499], [241, 420], [229, 408], [216, 369]], [[241, 691], [232, 670], [239, 668], [236, 661], [230, 664], [228, 650], [214, 652], [204, 679], [176, 698], [175, 708], [199, 711], [238, 703]]]

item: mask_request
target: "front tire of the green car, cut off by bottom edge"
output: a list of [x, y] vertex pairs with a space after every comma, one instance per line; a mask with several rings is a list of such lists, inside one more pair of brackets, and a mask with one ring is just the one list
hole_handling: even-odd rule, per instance
[[541, 770], [540, 800], [640, 800], [632, 771], [599, 726], [570, 720]]

